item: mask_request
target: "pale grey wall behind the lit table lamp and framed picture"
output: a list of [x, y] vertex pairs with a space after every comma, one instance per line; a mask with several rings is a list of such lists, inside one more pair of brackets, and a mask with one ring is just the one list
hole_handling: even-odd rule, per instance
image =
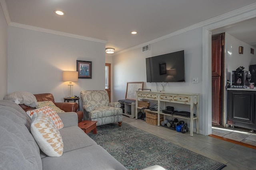
[[62, 71], [76, 70], [76, 60], [92, 61], [92, 79], [73, 82], [73, 94], [103, 90], [104, 43], [9, 26], [8, 94], [18, 90], [52, 93], [55, 101], [61, 102], [68, 95], [68, 82], [62, 81]]

